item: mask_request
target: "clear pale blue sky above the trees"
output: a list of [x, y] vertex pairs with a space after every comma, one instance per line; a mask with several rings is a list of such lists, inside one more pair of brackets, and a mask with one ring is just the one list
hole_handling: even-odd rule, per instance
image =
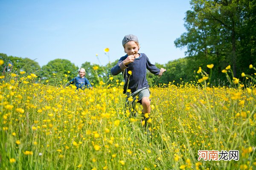
[[[174, 41], [184, 32], [189, 0], [0, 0], [0, 53], [35, 59], [57, 58], [78, 67], [124, 56], [122, 39], [134, 34], [152, 63], [185, 57]], [[96, 58], [98, 54], [99, 61]]]

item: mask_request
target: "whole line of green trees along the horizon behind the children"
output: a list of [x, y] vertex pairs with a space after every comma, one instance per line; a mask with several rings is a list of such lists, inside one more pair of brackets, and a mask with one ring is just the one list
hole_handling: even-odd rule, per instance
[[[177, 48], [186, 48], [185, 58], [155, 65], [166, 68], [162, 77], [148, 73], [149, 85], [180, 84], [195, 82], [197, 70], [201, 67], [209, 73], [212, 68], [212, 85], [227, 85], [226, 74], [222, 70], [231, 65], [233, 77], [240, 78], [241, 73], [254, 74], [249, 65], [256, 65], [256, 0], [191, 0], [191, 10], [186, 11], [185, 28], [175, 40]], [[67, 59], [54, 59], [42, 67], [28, 58], [0, 54], [6, 64], [12, 63], [15, 71], [35, 73], [42, 80], [57, 84], [77, 76], [76, 65]], [[86, 77], [94, 85], [102, 82], [122, 81], [122, 74], [111, 77], [110, 70], [117, 60], [107, 65], [84, 62], [81, 67], [86, 70]], [[2, 65], [4, 68], [4, 65]], [[231, 73], [228, 73], [231, 75]]]

